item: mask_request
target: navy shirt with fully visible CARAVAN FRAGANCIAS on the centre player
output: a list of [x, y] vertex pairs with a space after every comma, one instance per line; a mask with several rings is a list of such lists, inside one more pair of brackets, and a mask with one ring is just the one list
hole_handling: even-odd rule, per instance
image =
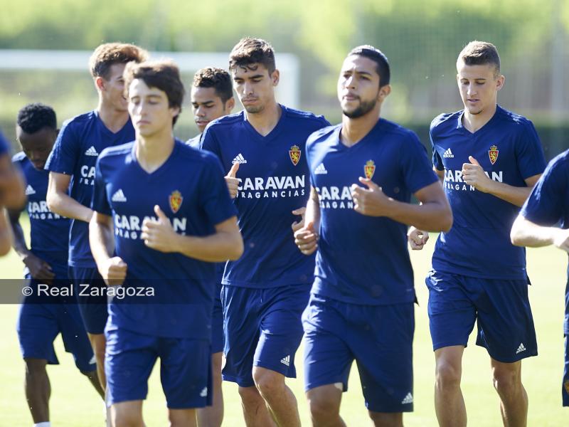
[[302, 255], [291, 212], [306, 206], [309, 174], [306, 140], [329, 125], [322, 116], [282, 106], [275, 128], [260, 135], [244, 112], [220, 117], [203, 132], [201, 147], [216, 154], [225, 174], [239, 163], [235, 206], [245, 252], [225, 265], [223, 285], [276, 288], [312, 283], [314, 257]]

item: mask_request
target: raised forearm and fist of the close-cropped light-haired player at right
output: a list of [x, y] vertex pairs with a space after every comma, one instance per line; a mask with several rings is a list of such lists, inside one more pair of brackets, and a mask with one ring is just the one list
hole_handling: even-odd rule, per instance
[[520, 207], [523, 206], [523, 202], [526, 201], [531, 193], [531, 189], [533, 189], [533, 186], [536, 185], [541, 176], [541, 174], [537, 174], [525, 179], [525, 187], [511, 186], [490, 179], [484, 173], [484, 169], [482, 169], [477, 159], [474, 159], [472, 156], [469, 156], [468, 159], [470, 163], [462, 165], [462, 179], [466, 184], [474, 186], [478, 191], [492, 194], [499, 197], [499, 199]]

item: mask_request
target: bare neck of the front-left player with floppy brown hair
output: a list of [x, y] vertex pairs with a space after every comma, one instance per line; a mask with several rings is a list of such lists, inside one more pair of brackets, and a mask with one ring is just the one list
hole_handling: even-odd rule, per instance
[[140, 167], [151, 174], [161, 167], [174, 151], [174, 134], [171, 128], [149, 137], [137, 135], [136, 150], [137, 161]]

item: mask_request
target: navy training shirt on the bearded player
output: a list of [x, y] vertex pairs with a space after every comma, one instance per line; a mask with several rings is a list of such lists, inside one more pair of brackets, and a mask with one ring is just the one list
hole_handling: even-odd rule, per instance
[[312, 293], [358, 305], [415, 300], [407, 226], [353, 210], [350, 187], [371, 178], [385, 195], [405, 203], [437, 182], [417, 135], [380, 119], [357, 144], [340, 141], [341, 125], [307, 142], [310, 181], [320, 205], [320, 239]]

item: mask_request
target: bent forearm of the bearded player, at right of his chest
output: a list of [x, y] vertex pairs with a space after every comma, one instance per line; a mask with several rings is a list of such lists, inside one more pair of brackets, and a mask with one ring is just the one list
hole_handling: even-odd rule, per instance
[[446, 201], [424, 201], [410, 204], [391, 199], [388, 218], [424, 231], [449, 231], [452, 211]]

